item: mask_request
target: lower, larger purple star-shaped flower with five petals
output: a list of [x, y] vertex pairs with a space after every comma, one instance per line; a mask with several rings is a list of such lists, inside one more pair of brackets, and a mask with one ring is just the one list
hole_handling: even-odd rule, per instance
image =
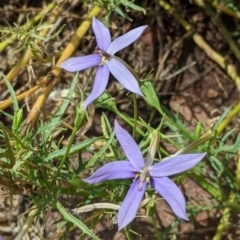
[[[94, 184], [113, 179], [134, 179], [118, 212], [118, 229], [124, 228], [134, 219], [148, 183], [168, 202], [175, 215], [188, 220], [183, 194], [168, 176], [194, 167], [206, 153], [173, 156], [152, 166], [155, 153], [148, 154], [148, 159], [144, 160], [136, 142], [117, 121], [115, 133], [128, 161], [108, 163], [84, 181]], [[156, 146], [153, 148], [157, 149]]]

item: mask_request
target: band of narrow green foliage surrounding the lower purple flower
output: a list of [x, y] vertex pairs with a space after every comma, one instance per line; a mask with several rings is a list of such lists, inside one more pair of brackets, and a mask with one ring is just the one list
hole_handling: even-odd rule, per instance
[[[5, 80], [7, 82], [7, 79]], [[8, 129], [3, 123], [0, 123], [0, 139], [5, 139], [5, 144], [0, 148], [0, 181], [11, 189], [11, 192], [14, 194], [22, 194], [23, 189], [28, 188], [31, 193], [28, 201], [34, 204], [37, 209], [40, 209], [39, 214], [45, 213], [49, 206], [58, 209], [62, 215], [62, 219], [59, 222], [61, 228], [70, 229], [73, 226], [77, 226], [81, 229], [82, 236], [88, 235], [92, 239], [99, 239], [90, 229], [104, 216], [107, 215], [112, 219], [116, 215], [116, 209], [123, 201], [131, 181], [108, 181], [91, 186], [82, 181], [82, 176], [86, 172], [94, 172], [96, 166], [102, 166], [115, 159], [125, 158], [116, 143], [111, 123], [106, 115], [103, 114], [101, 117], [102, 136], [75, 142], [71, 139], [75, 139], [77, 131], [87, 121], [81, 107], [77, 107], [74, 129], [71, 132], [68, 145], [63, 147], [61, 144], [55, 143], [53, 138], [54, 131], [58, 129], [61, 131], [65, 130], [60, 127], [62, 116], [70, 103], [77, 80], [78, 74], [73, 79], [69, 93], [56, 114], [47, 122], [40, 121], [38, 129], [28, 128], [25, 134], [22, 132], [25, 127], [22, 109], [18, 109], [18, 104], [15, 103], [15, 112], [11, 116], [13, 120], [12, 129]], [[145, 82], [142, 86], [144, 86], [142, 89], [146, 95], [146, 103], [149, 104], [149, 107], [159, 108], [161, 113], [163, 111], [162, 106], [155, 98], [156, 95], [150, 82]], [[13, 89], [10, 85], [8, 87], [12, 98], [16, 101]], [[148, 91], [150, 91], [149, 96]], [[112, 99], [106, 93], [97, 100], [97, 104], [100, 104], [103, 109], [106, 108], [118, 114], [116, 104], [112, 102]], [[79, 106], [81, 106], [81, 103]], [[120, 114], [120, 116], [123, 117], [123, 114]], [[127, 116], [124, 118], [128, 119], [127, 122], [134, 123], [134, 119]], [[141, 120], [141, 122], [138, 121], [138, 126], [136, 126], [137, 132], [141, 133], [142, 131], [144, 133], [139, 138], [139, 145], [143, 153], [146, 153], [149, 147], [149, 138], [152, 131], [156, 131], [149, 124]], [[142, 126], [141, 131], [138, 131], [139, 125]], [[166, 127], [169, 128], [171, 134], [164, 134], [163, 131]], [[161, 161], [162, 158], [169, 155], [166, 146], [179, 149], [176, 154], [192, 151], [208, 152], [206, 161], [188, 173], [176, 178], [178, 183], [184, 181], [186, 177], [192, 178], [213, 198], [213, 200], [209, 200], [209, 206], [202, 205], [198, 208], [194, 207], [194, 201], [189, 202], [187, 212], [191, 219], [194, 219], [202, 211], [210, 211], [228, 204], [228, 195], [223, 190], [226, 187], [234, 191], [237, 198], [240, 198], [236, 188], [236, 180], [229, 165], [231, 159], [234, 158], [240, 148], [239, 134], [232, 144], [228, 144], [228, 139], [232, 136], [234, 130], [230, 130], [221, 138], [217, 138], [213, 133], [205, 133], [206, 130], [201, 124], [196, 124], [195, 130], [189, 132], [188, 128], [181, 122], [178, 114], [170, 115], [169, 113], [166, 113], [162, 122], [159, 123], [157, 131], [159, 131], [162, 139], [157, 161]], [[209, 142], [209, 140], [211, 141]], [[97, 141], [103, 141], [103, 146], [98, 150], [92, 150], [92, 144]], [[83, 151], [88, 151], [91, 155], [86, 162], [82, 161], [81, 158]], [[75, 164], [78, 167], [73, 167]], [[81, 196], [82, 200], [79, 208], [73, 210], [64, 206], [59, 201], [59, 197], [62, 194], [67, 194], [71, 197]], [[101, 202], [103, 199], [104, 204], [110, 210], [102, 209]], [[160, 200], [152, 189], [147, 189], [142, 207], [146, 209], [150, 219], [152, 219], [153, 226], [156, 224], [153, 217], [154, 208]], [[97, 204], [92, 205], [93, 202]], [[93, 215], [95, 214], [93, 220], [87, 225], [84, 223], [84, 215], [82, 215], [86, 209], [92, 209], [89, 211], [93, 211]], [[79, 216], [81, 217], [79, 218]], [[166, 236], [178, 224], [180, 224], [179, 220], [172, 222], [165, 228], [162, 236]], [[67, 237], [67, 231], [64, 233], [64, 238]], [[133, 233], [131, 228], [128, 228], [126, 234], [130, 233], [138, 234], [137, 232]], [[159, 235], [159, 233], [157, 234]]]

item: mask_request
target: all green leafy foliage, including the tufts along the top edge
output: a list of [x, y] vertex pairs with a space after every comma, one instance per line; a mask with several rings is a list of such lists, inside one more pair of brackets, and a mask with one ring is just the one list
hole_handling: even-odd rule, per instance
[[[85, 4], [92, 3], [104, 9], [103, 14], [106, 22], [109, 21], [112, 12], [116, 12], [128, 20], [131, 19], [126, 12], [130, 10], [145, 14], [143, 7], [130, 0], [89, 0], [83, 2]], [[218, 2], [219, 4], [224, 3], [239, 13], [234, 1], [219, 0]], [[44, 51], [41, 42], [53, 40], [64, 27], [60, 27], [60, 30], [52, 36], [42, 36], [40, 35], [42, 30], [52, 26], [40, 22], [38, 26], [30, 27], [29, 20], [27, 23], [28, 26], [25, 25], [25, 27], [17, 25], [13, 27], [7, 23], [8, 26], [1, 27], [0, 32], [3, 39], [11, 34], [17, 35], [19, 44], [15, 53], [23, 49], [30, 49], [36, 58], [39, 58], [39, 54]], [[60, 238], [67, 239], [72, 229], [79, 228], [81, 239], [85, 239], [86, 236], [91, 237], [91, 239], [99, 239], [93, 234], [92, 229], [106, 217], [109, 225], [115, 224], [117, 210], [131, 185], [131, 180], [107, 181], [96, 185], [86, 184], [82, 180], [100, 166], [116, 159], [126, 158], [115, 139], [111, 118], [102, 112], [98, 126], [101, 135], [89, 138], [83, 136], [91, 116], [89, 116], [88, 110], [82, 109], [82, 102], [77, 102], [73, 126], [71, 129], [65, 127], [63, 124], [64, 113], [71, 103], [79, 81], [79, 75], [76, 74], [71, 82], [67, 97], [56, 113], [48, 120], [40, 116], [38, 127], [31, 128], [24, 121], [24, 108], [18, 103], [14, 88], [5, 75], [2, 74], [2, 78], [13, 101], [13, 113], [0, 112], [11, 121], [10, 126], [0, 121], [1, 186], [5, 187], [11, 194], [23, 195], [32, 209], [38, 210], [34, 216], [35, 219], [40, 217], [44, 219], [47, 216], [48, 208], [56, 209], [62, 216], [56, 223], [59, 224], [58, 228], [63, 232]], [[201, 122], [196, 122], [195, 129], [190, 131], [178, 113], [173, 114], [162, 104], [152, 79], [148, 77], [142, 80], [140, 85], [144, 93], [141, 104], [145, 104], [144, 107], [149, 113], [149, 118], [146, 117], [145, 120], [140, 115], [131, 117], [122, 113], [116, 100], [107, 92], [95, 101], [94, 107], [101, 108], [102, 111], [107, 110], [108, 113], [121, 118], [130, 128], [136, 129], [134, 138], [144, 156], [148, 151], [153, 131], [157, 131], [161, 138], [161, 144], [158, 148], [156, 162], [173, 154], [172, 149], [174, 149], [174, 155], [207, 152], [207, 157], [198, 166], [173, 177], [178, 184], [190, 178], [208, 193], [207, 205], [198, 203], [193, 196], [188, 196], [187, 212], [191, 221], [195, 221], [196, 216], [203, 211], [223, 210], [226, 206], [230, 210], [239, 211], [240, 181], [237, 178], [239, 172], [235, 174], [236, 165], [239, 165], [237, 159], [240, 149], [239, 130], [236, 127], [236, 129], [229, 129], [224, 134], [218, 135], [218, 128], [227, 118], [231, 109], [227, 109], [211, 129], [205, 129]], [[161, 116], [159, 123], [153, 121], [156, 114]], [[158, 126], [154, 127], [153, 125]], [[63, 145], [63, 138], [54, 137], [56, 131], [61, 131], [62, 135], [69, 134], [66, 145]], [[86, 153], [87, 159], [83, 157]], [[229, 200], [229, 192], [235, 196], [234, 204]], [[188, 195], [188, 193], [186, 194]], [[61, 200], [62, 196], [68, 199], [76, 197], [80, 200], [78, 205], [72, 209]], [[146, 210], [146, 215], [151, 220], [158, 239], [167, 238], [181, 223], [179, 219], [176, 219], [166, 226], [161, 233], [159, 232], [154, 214], [155, 207], [160, 201], [162, 198], [148, 188], [141, 203], [141, 207]], [[229, 224], [233, 223], [230, 219]], [[124, 230], [124, 233], [128, 239], [141, 237], [138, 232], [132, 229], [131, 225]], [[133, 237], [131, 238], [131, 236]], [[172, 239], [177, 239], [178, 233], [175, 231], [172, 236]]]

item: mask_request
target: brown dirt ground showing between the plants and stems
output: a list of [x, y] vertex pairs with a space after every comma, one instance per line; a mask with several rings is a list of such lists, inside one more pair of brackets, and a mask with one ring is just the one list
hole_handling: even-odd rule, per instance
[[[140, 2], [140, 1], [139, 1]], [[147, 14], [130, 11], [128, 15], [133, 19], [132, 22], [121, 18], [116, 13], [113, 13], [110, 18], [110, 29], [113, 38], [127, 32], [129, 29], [147, 24], [149, 27], [140, 38], [131, 46], [123, 51], [120, 51], [118, 56], [128, 62], [135, 70], [142, 67], [140, 75], [145, 78], [151, 71], [151, 79], [154, 79], [154, 86], [159, 95], [160, 101], [168, 107], [172, 112], [179, 112], [181, 119], [192, 131], [196, 125], [196, 121], [200, 121], [206, 129], [211, 128], [215, 121], [223, 114], [223, 112], [231, 106], [236, 105], [240, 100], [239, 91], [236, 88], [234, 81], [223, 71], [208, 55], [197, 46], [191, 35], [180, 26], [178, 22], [168, 13], [166, 13], [158, 4], [158, 1], [145, 1]], [[209, 17], [191, 1], [172, 1], [178, 12], [194, 24], [194, 31], [201, 34], [205, 40], [225, 56], [229, 63], [232, 63], [237, 69], [240, 69], [240, 63], [231, 54], [228, 44], [222, 35], [218, 32]], [[10, 24], [17, 23], [21, 25], [25, 22], [26, 16], [29, 18], [39, 12], [45, 1], [27, 1], [27, 0], [9, 0], [1, 1], [0, 3], [0, 25], [6, 25], [5, 21]], [[240, 4], [238, 3], [240, 9]], [[57, 40], [50, 41], [45, 47], [46, 56], [56, 53], [65, 46], [69, 40], [69, 36], [74, 32], [82, 18], [88, 11], [87, 7], [82, 7], [80, 1], [72, 1], [68, 8], [63, 12], [63, 23], [67, 25], [63, 32], [57, 37]], [[233, 19], [223, 15], [222, 21], [225, 26], [231, 31], [240, 31], [240, 20]], [[239, 35], [240, 36], [240, 35]], [[236, 41], [239, 43], [240, 38], [236, 36]], [[13, 54], [17, 47], [17, 42], [9, 45], [3, 52], [0, 58], [0, 71], [7, 73], [16, 62], [19, 60], [23, 52]], [[94, 51], [95, 42], [92, 30], [90, 30], [81, 42], [75, 56], [89, 54]], [[34, 75], [29, 83], [29, 72], [27, 68], [22, 69], [21, 73], [14, 80], [14, 88], [16, 91], [28, 89], [28, 84], [34, 84], [38, 79], [44, 76], [51, 64], [33, 64]], [[87, 72], [90, 74], [90, 72]], [[88, 78], [86, 72], [80, 73], [80, 84], [86, 86]], [[64, 73], [58, 89], [67, 89], [71, 83], [72, 74]], [[129, 107], [129, 99], [119, 89], [121, 86], [116, 81], [111, 81], [107, 87], [108, 92], [116, 98], [119, 109], [125, 113], [131, 114]], [[0, 101], [8, 97], [7, 91], [0, 94]], [[31, 99], [32, 100], [32, 99]], [[28, 113], [28, 105], [31, 108], [32, 102], [27, 102], [25, 107], [25, 116]], [[26, 104], [22, 102], [22, 104]], [[57, 104], [56, 101], [48, 100], [46, 111], [51, 111]], [[11, 112], [12, 108], [8, 108], [7, 112]], [[66, 114], [66, 119], [69, 122], [73, 121], [72, 113], [74, 106], [70, 108]], [[139, 100], [139, 114], [142, 118], [147, 119], [151, 109]], [[101, 134], [99, 131], [99, 116], [101, 109], [96, 109], [94, 123], [88, 134]], [[107, 112], [110, 119], [114, 119], [114, 115]], [[10, 124], [9, 120], [0, 114], [0, 120], [6, 125]], [[155, 115], [154, 123], [159, 123], [161, 117]], [[240, 116], [235, 118], [228, 128], [240, 127]], [[201, 187], [193, 180], [186, 179], [182, 186], [182, 191], [185, 193], [189, 201], [194, 199], [195, 202], [202, 204], [213, 204], [207, 202], [206, 198], [211, 198]], [[6, 193], [5, 189], [2, 194]], [[26, 200], [21, 196], [14, 196], [13, 205], [11, 206], [10, 199], [7, 195], [0, 194], [0, 234], [4, 240], [13, 239], [13, 236], [21, 228], [24, 216], [19, 217], [29, 206]], [[73, 201], [74, 203], [77, 200]], [[139, 211], [140, 215], [144, 212]], [[171, 214], [167, 204], [161, 200], [156, 207], [156, 219], [158, 228], [165, 229], [175, 217]], [[182, 222], [174, 231], [171, 232], [165, 239], [179, 240], [208, 240], [212, 239], [218, 225], [220, 214], [217, 211], [203, 211], [199, 213], [193, 222]], [[233, 216], [234, 218], [235, 216]], [[59, 218], [59, 215], [53, 211], [46, 224], [46, 239], [53, 237], [53, 232], [56, 230], [51, 224]], [[237, 219], [237, 216], [236, 216]], [[239, 219], [236, 220], [239, 222]], [[236, 222], [236, 223], [237, 223]], [[150, 220], [147, 217], [141, 217], [134, 220], [131, 225], [132, 229], [139, 233], [133, 239], [150, 240], [156, 239], [152, 230]], [[33, 224], [33, 227], [28, 231], [29, 239], [39, 239], [38, 224]], [[116, 224], [112, 220], [104, 219], [97, 224], [94, 232], [104, 240], [124, 240], [122, 233], [117, 232]], [[74, 231], [69, 236], [69, 239], [78, 239], [80, 232]], [[173, 235], [176, 234], [175, 238]], [[27, 238], [26, 238], [27, 239]], [[225, 239], [240, 239], [240, 228], [229, 228], [225, 235]]]

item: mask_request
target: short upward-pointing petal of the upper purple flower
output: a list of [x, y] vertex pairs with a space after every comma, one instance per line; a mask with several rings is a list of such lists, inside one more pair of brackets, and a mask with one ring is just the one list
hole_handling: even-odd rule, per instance
[[111, 35], [108, 28], [106, 28], [104, 24], [95, 17], [93, 17], [92, 20], [92, 27], [98, 47], [106, 52], [111, 43]]

